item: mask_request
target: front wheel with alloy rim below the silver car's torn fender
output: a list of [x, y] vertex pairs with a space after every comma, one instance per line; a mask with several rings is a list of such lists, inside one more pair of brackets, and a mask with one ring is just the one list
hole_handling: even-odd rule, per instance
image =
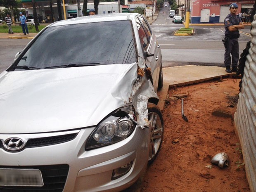
[[164, 120], [160, 109], [156, 104], [148, 103], [149, 123], [149, 158], [148, 164], [151, 164], [160, 151], [164, 138]]

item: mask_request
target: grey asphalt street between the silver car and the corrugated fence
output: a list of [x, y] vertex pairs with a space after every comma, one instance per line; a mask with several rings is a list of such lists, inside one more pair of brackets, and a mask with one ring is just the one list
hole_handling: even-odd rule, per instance
[[[194, 28], [193, 36], [174, 36], [174, 32], [184, 24], [174, 24], [168, 16], [168, 7], [163, 7], [151, 27], [158, 37], [162, 50], [164, 67], [199, 64], [207, 66], [223, 66], [225, 48], [222, 43], [225, 28], [223, 24], [190, 24]], [[239, 52], [251, 39], [250, 26], [240, 30]]]

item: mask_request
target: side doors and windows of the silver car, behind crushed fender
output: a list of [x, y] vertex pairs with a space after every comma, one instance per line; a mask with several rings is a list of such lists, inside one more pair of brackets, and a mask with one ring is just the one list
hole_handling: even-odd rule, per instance
[[148, 54], [153, 54], [151, 57], [146, 57], [145, 60], [147, 67], [151, 69], [153, 85], [155, 90], [157, 90], [161, 66], [160, 45], [157, 43], [156, 36], [152, 33], [152, 29], [143, 17], [137, 17], [136, 23], [142, 49]]

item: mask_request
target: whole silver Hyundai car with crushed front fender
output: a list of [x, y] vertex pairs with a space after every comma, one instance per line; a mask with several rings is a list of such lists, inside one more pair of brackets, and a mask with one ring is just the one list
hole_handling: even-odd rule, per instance
[[117, 192], [159, 152], [161, 50], [140, 14], [55, 22], [0, 74], [0, 191]]

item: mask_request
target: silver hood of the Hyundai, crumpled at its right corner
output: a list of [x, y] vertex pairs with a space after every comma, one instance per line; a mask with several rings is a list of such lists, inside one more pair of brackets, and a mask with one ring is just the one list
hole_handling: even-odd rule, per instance
[[0, 74], [0, 133], [39, 133], [95, 126], [127, 104], [137, 64]]

